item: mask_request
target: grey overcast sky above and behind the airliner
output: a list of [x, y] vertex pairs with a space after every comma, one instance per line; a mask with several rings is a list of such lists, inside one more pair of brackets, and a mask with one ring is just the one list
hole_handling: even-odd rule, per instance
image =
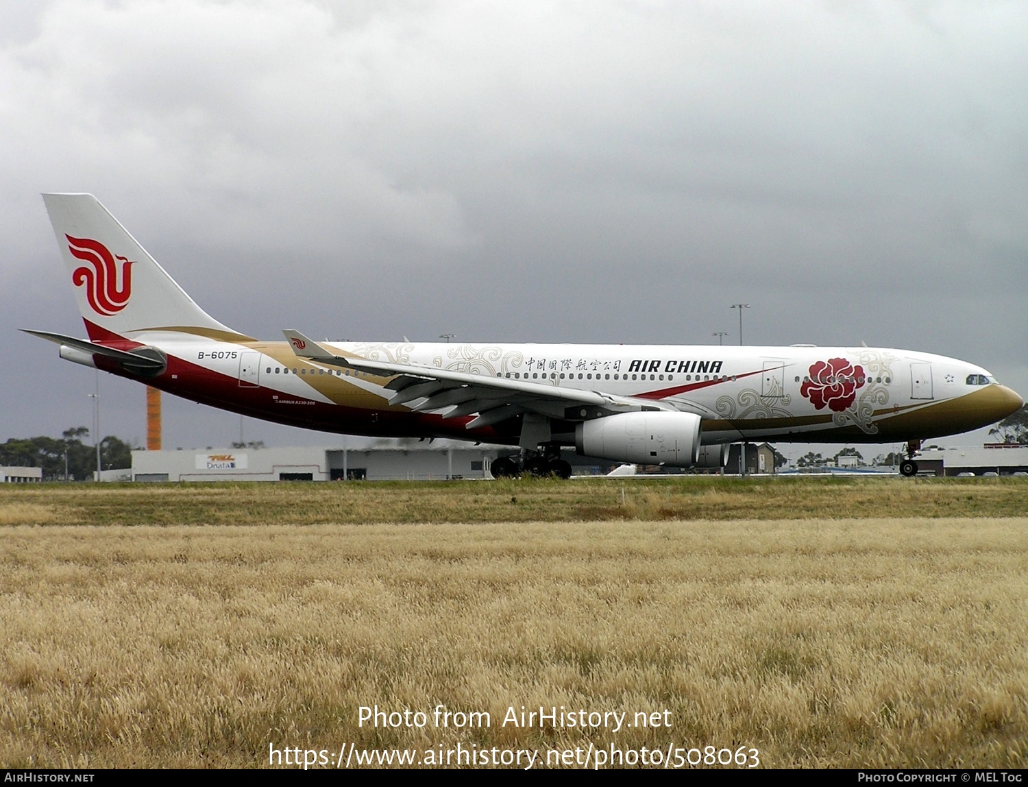
[[[741, 301], [746, 344], [1026, 395], [1026, 41], [1020, 1], [4, 3], [0, 441], [91, 424], [95, 372], [16, 331], [84, 335], [41, 191], [264, 338], [737, 343]], [[166, 448], [238, 438], [164, 410]]]

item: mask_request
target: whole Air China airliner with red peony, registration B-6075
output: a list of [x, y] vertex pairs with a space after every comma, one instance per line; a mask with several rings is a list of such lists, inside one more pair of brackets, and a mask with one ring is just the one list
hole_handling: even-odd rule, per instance
[[909, 350], [262, 342], [221, 324], [91, 194], [43, 194], [88, 338], [60, 356], [222, 409], [326, 432], [517, 446], [494, 476], [571, 475], [561, 449], [724, 467], [732, 442], [897, 442], [1023, 404], [986, 369]]

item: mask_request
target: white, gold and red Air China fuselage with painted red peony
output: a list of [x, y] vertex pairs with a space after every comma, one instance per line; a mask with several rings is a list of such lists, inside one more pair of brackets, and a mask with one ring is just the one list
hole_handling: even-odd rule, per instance
[[[386, 387], [392, 379], [387, 374], [319, 364], [297, 357], [285, 343], [169, 338], [133, 336], [220, 379], [218, 401], [212, 402], [219, 406], [286, 423], [308, 420], [311, 428], [340, 432], [482, 437], [465, 428], [471, 414], [447, 417], [452, 404], [429, 410], [419, 408], [425, 399], [389, 404], [393, 392]], [[702, 419], [704, 443], [920, 439], [984, 426], [1020, 406], [1020, 397], [982, 367], [907, 350], [463, 343], [323, 347], [369, 361], [549, 386], [557, 389], [554, 393], [596, 392], [695, 413]], [[189, 383], [194, 374], [171, 366], [169, 374], [174, 379], [159, 387], [187, 388], [192, 393], [183, 395], [196, 398]], [[254, 413], [255, 407], [262, 412]], [[335, 416], [326, 412], [334, 407], [341, 408]], [[491, 438], [516, 442], [516, 435], [504, 439], [504, 434], [499, 430]]]

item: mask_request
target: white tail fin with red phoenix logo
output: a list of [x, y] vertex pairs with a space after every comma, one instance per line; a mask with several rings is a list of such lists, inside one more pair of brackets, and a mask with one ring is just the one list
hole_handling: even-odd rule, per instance
[[179, 330], [248, 339], [186, 294], [93, 194], [43, 194], [89, 338]]

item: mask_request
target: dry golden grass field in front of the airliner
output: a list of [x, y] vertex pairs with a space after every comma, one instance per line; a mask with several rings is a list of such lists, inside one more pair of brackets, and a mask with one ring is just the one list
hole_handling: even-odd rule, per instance
[[[1028, 479], [25, 486], [0, 526], [0, 766], [1028, 764]], [[503, 725], [521, 706], [669, 726]]]

